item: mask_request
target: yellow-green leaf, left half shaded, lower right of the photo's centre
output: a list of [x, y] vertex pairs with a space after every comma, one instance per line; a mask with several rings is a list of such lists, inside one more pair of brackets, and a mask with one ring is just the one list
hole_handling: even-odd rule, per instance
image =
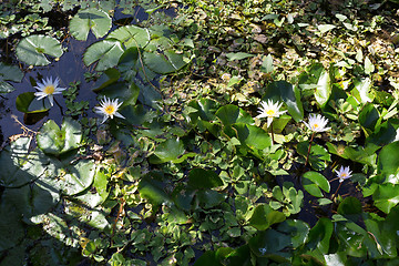
[[285, 219], [284, 213], [274, 211], [268, 204], [259, 204], [249, 218], [249, 225], [258, 231], [265, 231], [269, 226], [282, 223]]

